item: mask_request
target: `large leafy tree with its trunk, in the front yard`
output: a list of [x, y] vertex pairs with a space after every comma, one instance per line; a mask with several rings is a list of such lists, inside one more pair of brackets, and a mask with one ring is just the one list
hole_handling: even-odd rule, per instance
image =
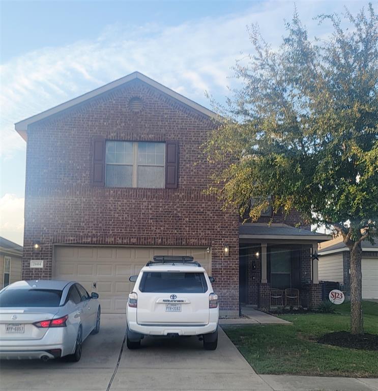
[[254, 51], [234, 68], [241, 87], [217, 106], [223, 124], [205, 146], [209, 191], [252, 221], [272, 194], [274, 212], [296, 209], [342, 235], [351, 332], [361, 334], [361, 242], [378, 224], [378, 18], [370, 4], [317, 19], [332, 34], [309, 39], [295, 12], [275, 50], [249, 28]]

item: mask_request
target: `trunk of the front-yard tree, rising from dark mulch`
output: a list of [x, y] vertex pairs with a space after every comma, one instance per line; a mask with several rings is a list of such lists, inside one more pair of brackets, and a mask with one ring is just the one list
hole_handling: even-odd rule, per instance
[[364, 321], [362, 317], [362, 248], [361, 243], [355, 243], [351, 250], [351, 333], [363, 334]]

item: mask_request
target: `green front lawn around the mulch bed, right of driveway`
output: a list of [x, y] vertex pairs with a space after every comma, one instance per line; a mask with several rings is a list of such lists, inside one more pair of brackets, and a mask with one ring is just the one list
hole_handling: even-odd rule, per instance
[[[378, 377], [378, 351], [318, 344], [325, 333], [350, 330], [349, 303], [337, 314], [280, 315], [293, 325], [224, 327], [252, 368], [260, 374]], [[378, 303], [363, 303], [365, 332], [378, 334]]]

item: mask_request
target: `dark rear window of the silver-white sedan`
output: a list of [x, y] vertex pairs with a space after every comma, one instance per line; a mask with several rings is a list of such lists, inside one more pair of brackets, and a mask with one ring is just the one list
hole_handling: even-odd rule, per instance
[[0, 293], [0, 307], [57, 307], [62, 291], [54, 289], [6, 289]]

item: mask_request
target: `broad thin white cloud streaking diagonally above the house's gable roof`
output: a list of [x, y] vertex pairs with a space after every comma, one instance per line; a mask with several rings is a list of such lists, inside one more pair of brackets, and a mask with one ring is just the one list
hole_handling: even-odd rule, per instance
[[[361, 2], [350, 2], [352, 11]], [[216, 3], [214, 3], [216, 6]], [[297, 3], [310, 32], [319, 31], [312, 17], [342, 11], [340, 2]], [[11, 158], [25, 143], [14, 123], [54, 105], [138, 70], [202, 104], [204, 90], [222, 99], [232, 83], [230, 67], [249, 52], [246, 25], [258, 22], [268, 42], [277, 44], [283, 18], [294, 11], [292, 2], [251, 3], [239, 14], [202, 18], [176, 26], [115, 24], [92, 41], [46, 47], [3, 64], [1, 79], [0, 155]]]

